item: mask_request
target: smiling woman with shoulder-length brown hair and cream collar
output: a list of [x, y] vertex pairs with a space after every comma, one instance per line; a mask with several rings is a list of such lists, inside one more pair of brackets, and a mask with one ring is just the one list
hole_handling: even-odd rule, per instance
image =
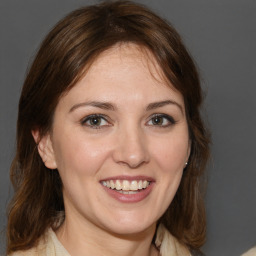
[[20, 98], [7, 253], [199, 253], [201, 102], [179, 35], [147, 8], [103, 2], [61, 20]]

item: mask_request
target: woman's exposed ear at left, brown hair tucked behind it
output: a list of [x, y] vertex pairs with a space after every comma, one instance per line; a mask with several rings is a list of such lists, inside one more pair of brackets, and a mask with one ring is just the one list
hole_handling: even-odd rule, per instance
[[57, 164], [55, 160], [54, 150], [52, 147], [52, 140], [49, 133], [40, 138], [39, 130], [32, 130], [32, 136], [37, 144], [37, 150], [44, 162], [44, 165], [49, 169], [56, 169]]

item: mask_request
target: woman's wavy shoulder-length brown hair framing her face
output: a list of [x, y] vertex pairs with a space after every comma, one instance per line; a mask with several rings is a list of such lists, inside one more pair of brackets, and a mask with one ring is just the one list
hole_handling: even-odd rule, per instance
[[199, 112], [202, 92], [195, 64], [166, 21], [131, 1], [107, 1], [73, 11], [61, 20], [43, 41], [26, 77], [10, 174], [15, 194], [8, 212], [7, 253], [33, 247], [64, 210], [58, 171], [44, 166], [31, 130], [39, 129], [44, 136], [63, 93], [99, 54], [120, 42], [150, 50], [165, 77], [184, 97], [191, 155], [176, 196], [159, 221], [190, 249], [204, 243], [200, 180], [209, 156], [209, 135]]

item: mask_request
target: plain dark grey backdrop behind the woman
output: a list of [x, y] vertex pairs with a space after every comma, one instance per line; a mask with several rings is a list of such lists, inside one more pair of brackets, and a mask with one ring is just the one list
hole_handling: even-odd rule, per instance
[[[256, 1], [139, 2], [175, 25], [200, 67], [213, 139], [204, 251], [208, 256], [240, 255], [256, 245]], [[90, 3], [95, 1], [0, 2], [0, 230], [11, 197], [8, 169], [28, 63], [63, 15]]]

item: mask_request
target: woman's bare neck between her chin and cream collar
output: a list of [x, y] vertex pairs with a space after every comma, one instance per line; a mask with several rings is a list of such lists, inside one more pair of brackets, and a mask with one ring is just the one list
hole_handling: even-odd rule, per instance
[[71, 255], [156, 256], [152, 245], [156, 225], [135, 234], [115, 234], [90, 222], [69, 219], [56, 231]]

